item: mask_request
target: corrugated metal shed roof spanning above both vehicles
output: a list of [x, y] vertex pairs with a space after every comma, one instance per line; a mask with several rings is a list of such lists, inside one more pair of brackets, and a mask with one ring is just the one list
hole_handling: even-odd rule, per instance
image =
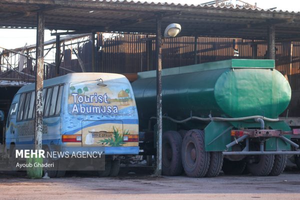
[[45, 13], [48, 29], [155, 33], [155, 17], [162, 27], [180, 23], [180, 35], [266, 38], [275, 25], [277, 38], [300, 37], [300, 12], [245, 7], [155, 3], [127, 0], [1, 0], [0, 26], [35, 27], [36, 11]]

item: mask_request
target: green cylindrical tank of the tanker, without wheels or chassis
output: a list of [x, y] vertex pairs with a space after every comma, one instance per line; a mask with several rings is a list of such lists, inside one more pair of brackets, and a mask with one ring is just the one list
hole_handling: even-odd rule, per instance
[[[138, 73], [132, 83], [140, 120], [156, 115], [156, 72]], [[291, 89], [274, 60], [229, 59], [162, 70], [162, 113], [276, 118], [287, 107]], [[141, 121], [141, 122], [142, 122]]]

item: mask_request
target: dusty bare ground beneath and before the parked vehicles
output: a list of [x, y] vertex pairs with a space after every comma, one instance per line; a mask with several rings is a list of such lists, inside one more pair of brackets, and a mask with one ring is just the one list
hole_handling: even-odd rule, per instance
[[300, 199], [300, 170], [279, 176], [153, 177], [148, 168], [122, 168], [118, 177], [68, 173], [29, 179], [0, 173], [0, 199]]

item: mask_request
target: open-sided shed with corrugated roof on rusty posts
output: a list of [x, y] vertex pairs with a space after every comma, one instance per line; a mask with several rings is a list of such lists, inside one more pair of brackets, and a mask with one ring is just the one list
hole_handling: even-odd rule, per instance
[[[275, 58], [275, 41], [297, 41], [300, 38], [300, 13], [252, 8], [207, 5], [181, 5], [113, 0], [2, 0], [2, 28], [37, 28], [35, 81], [36, 92], [42, 92], [44, 28], [65, 30], [59, 35], [89, 32], [126, 32], [155, 34], [155, 63], [157, 70], [157, 124], [161, 138], [161, 31], [169, 23], [181, 24], [179, 36], [236, 37], [266, 40], [267, 58]], [[196, 41], [196, 39], [194, 39]], [[92, 39], [91, 71], [95, 65], [95, 39]], [[196, 42], [195, 42], [196, 43]], [[57, 46], [56, 74], [60, 51]], [[255, 51], [255, 47], [253, 48]], [[194, 45], [194, 51], [197, 48]], [[35, 146], [41, 147], [41, 95], [36, 95]], [[160, 142], [161, 143], [161, 142]], [[158, 148], [159, 149], [159, 148]], [[159, 155], [159, 153], [158, 153]], [[158, 156], [159, 157], [159, 156]], [[159, 164], [158, 164], [159, 173]]]

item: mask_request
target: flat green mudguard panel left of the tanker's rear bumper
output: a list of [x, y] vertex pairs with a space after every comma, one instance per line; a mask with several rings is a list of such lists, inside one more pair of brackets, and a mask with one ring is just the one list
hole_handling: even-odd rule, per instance
[[[205, 151], [223, 151], [231, 142], [230, 131], [233, 126], [225, 121], [211, 121], [205, 128]], [[231, 150], [231, 149], [228, 149]]]

